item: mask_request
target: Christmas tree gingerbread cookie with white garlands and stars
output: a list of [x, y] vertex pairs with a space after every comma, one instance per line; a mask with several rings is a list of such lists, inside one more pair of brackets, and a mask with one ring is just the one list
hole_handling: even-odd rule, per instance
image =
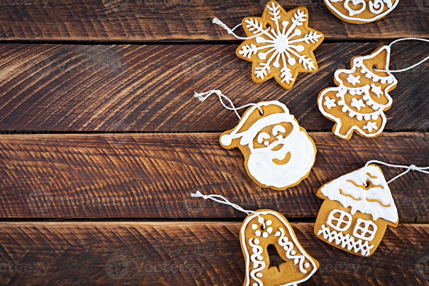
[[388, 70], [390, 47], [381, 46], [367, 56], [353, 57], [351, 69], [335, 71], [337, 87], [319, 93], [317, 105], [322, 114], [335, 121], [332, 132], [349, 140], [356, 131], [364, 137], [376, 137], [386, 125], [384, 111], [392, 105], [390, 90], [398, 81]]

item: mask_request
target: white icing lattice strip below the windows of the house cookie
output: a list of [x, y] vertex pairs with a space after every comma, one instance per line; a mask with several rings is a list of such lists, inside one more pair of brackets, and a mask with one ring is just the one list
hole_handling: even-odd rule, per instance
[[329, 230], [329, 227], [322, 225], [322, 229], [319, 229], [317, 235], [323, 234], [323, 239], [328, 239], [329, 243], [335, 240], [335, 245], [341, 244], [342, 248], [346, 248], [350, 251], [353, 249], [355, 253], [361, 252], [363, 256], [368, 256], [371, 253], [371, 249], [374, 247], [373, 244], [369, 245], [368, 241], [363, 242], [361, 239], [355, 240], [353, 236], [348, 233], [343, 235], [342, 232], [336, 232], [335, 230]]

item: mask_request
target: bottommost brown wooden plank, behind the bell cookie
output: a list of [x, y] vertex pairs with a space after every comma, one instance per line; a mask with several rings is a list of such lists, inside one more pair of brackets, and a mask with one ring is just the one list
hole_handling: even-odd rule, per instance
[[[1, 223], [0, 280], [9, 285], [242, 285], [240, 225]], [[302, 247], [320, 263], [303, 285], [428, 283], [423, 268], [429, 253], [426, 224], [388, 228], [369, 258], [315, 238], [313, 223], [291, 225]]]

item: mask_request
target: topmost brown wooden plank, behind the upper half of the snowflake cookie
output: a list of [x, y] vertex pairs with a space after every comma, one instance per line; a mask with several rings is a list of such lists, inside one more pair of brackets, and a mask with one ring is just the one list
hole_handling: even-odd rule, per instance
[[[0, 39], [5, 40], [230, 40], [211, 23], [230, 27], [260, 16], [266, 0], [14, 0], [2, 1]], [[278, 1], [285, 9], [308, 8], [311, 27], [327, 39], [428, 37], [425, 0], [401, 0], [389, 15], [366, 25], [335, 17], [321, 0]], [[242, 30], [237, 29], [239, 35]]]

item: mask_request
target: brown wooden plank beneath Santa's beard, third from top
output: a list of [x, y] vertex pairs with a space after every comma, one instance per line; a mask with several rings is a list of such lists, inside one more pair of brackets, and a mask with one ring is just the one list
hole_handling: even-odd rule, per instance
[[[254, 184], [238, 149], [220, 133], [2, 135], [0, 217], [230, 218], [244, 213], [190, 193], [224, 195], [248, 210], [315, 217], [324, 183], [368, 160], [429, 166], [429, 133], [384, 133], [345, 141], [310, 132], [317, 146], [308, 178], [285, 191]], [[386, 178], [400, 169], [381, 167]], [[429, 176], [411, 172], [390, 184], [401, 222], [429, 221]]]

